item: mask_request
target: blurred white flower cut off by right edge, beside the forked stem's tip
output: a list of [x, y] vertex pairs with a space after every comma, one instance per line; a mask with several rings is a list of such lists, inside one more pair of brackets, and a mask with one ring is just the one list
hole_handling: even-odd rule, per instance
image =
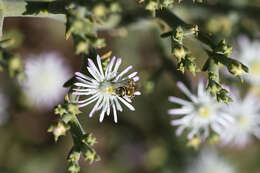
[[260, 41], [250, 41], [246, 36], [237, 39], [239, 51], [234, 52], [234, 58], [249, 67], [249, 73], [245, 74], [245, 79], [254, 85], [260, 86]]

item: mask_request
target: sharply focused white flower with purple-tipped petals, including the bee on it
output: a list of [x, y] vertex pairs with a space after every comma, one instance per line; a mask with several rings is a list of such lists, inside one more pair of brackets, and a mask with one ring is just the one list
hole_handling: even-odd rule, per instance
[[113, 57], [103, 70], [100, 56], [97, 56], [97, 66], [91, 59], [88, 59], [87, 69], [91, 76], [80, 72], [75, 73], [79, 82], [74, 85], [80, 88], [74, 89], [73, 94], [88, 97], [78, 101], [79, 107], [87, 106], [96, 101], [89, 117], [101, 110], [99, 121], [102, 122], [105, 114], [110, 114], [112, 107], [114, 121], [117, 123], [117, 111], [123, 110], [120, 102], [130, 110], [135, 110], [130, 103], [133, 96], [141, 94], [141, 92], [136, 91], [135, 84], [139, 77], [137, 72], [125, 76], [133, 66], [128, 66], [121, 73], [118, 73], [121, 62], [121, 58]]

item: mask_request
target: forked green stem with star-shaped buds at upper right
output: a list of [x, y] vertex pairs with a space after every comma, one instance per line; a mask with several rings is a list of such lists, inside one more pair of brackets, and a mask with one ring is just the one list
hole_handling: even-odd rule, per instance
[[[173, 13], [168, 13], [169, 15], [174, 16]], [[170, 16], [163, 16], [164, 19]], [[175, 18], [177, 18], [175, 16]], [[166, 22], [168, 19], [166, 20]], [[232, 99], [228, 96], [228, 91], [223, 88], [219, 82], [219, 64], [222, 64], [227, 67], [229, 72], [239, 77], [242, 80], [242, 74], [248, 72], [248, 68], [241, 62], [230, 58], [232, 47], [226, 44], [225, 40], [220, 41], [218, 44], [215, 44], [213, 38], [207, 36], [205, 33], [199, 30], [198, 26], [191, 26], [184, 23], [179, 19], [178, 23], [182, 25], [177, 26], [170, 32], [163, 33], [161, 37], [170, 37], [171, 40], [171, 50], [174, 57], [178, 62], [178, 70], [184, 73], [185, 69], [190, 71], [193, 75], [196, 72], [207, 71], [208, 72], [208, 86], [207, 91], [209, 91], [213, 96], [216, 96], [218, 102], [229, 103]], [[209, 45], [211, 49], [201, 47], [208, 54], [208, 60], [200, 69], [196, 63], [196, 57], [191, 56], [192, 52], [185, 47], [183, 39], [185, 37], [193, 37], [193, 39], [202, 42], [205, 45]]]

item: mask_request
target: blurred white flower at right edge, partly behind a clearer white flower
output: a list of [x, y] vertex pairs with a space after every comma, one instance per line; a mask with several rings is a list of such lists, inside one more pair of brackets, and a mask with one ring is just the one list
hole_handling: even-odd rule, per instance
[[241, 148], [252, 140], [252, 135], [260, 139], [260, 101], [256, 96], [249, 94], [243, 100], [234, 99], [224, 108], [224, 114], [235, 121], [221, 133], [223, 145]]

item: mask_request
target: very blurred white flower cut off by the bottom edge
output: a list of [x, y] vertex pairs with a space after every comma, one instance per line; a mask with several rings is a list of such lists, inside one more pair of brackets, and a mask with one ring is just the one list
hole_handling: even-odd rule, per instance
[[235, 173], [232, 165], [218, 156], [213, 149], [203, 149], [199, 157], [188, 167], [187, 173]]

